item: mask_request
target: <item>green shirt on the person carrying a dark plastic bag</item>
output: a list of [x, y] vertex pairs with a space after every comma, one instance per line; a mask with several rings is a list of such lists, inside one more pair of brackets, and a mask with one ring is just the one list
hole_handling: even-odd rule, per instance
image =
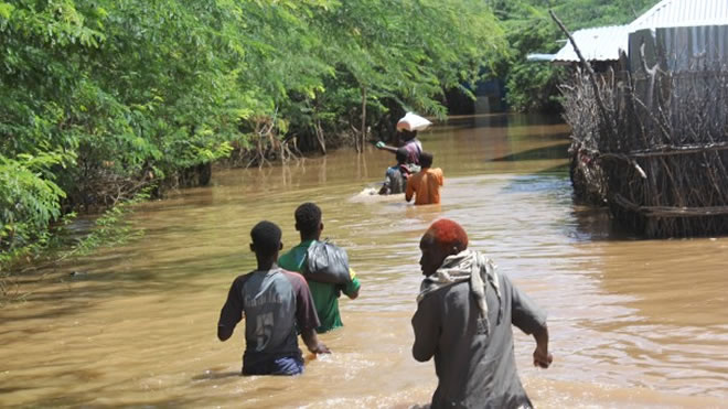
[[[293, 247], [287, 254], [280, 256], [278, 266], [289, 271], [302, 272], [306, 262], [306, 252], [314, 240], [301, 241], [298, 246]], [[340, 286], [330, 284], [325, 282], [317, 282], [307, 280], [311, 295], [313, 295], [313, 304], [315, 312], [319, 315], [321, 326], [315, 329], [318, 333], [323, 333], [343, 326], [341, 315], [339, 314], [339, 290], [343, 291], [346, 295], [355, 294], [361, 287], [354, 270], [349, 270], [352, 276], [352, 281], [342, 288]]]

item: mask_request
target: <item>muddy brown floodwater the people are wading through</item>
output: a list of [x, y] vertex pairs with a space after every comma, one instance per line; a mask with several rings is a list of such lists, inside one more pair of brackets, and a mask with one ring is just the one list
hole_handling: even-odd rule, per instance
[[[728, 238], [611, 232], [603, 212], [572, 203], [568, 130], [553, 120], [452, 118], [421, 140], [445, 173], [440, 206], [361, 194], [394, 162], [375, 149], [217, 171], [211, 187], [140, 205], [141, 239], [24, 277], [26, 301], [0, 310], [0, 406], [427, 403], [435, 368], [411, 358], [409, 320], [418, 240], [439, 217], [459, 220], [471, 248], [548, 311], [549, 369], [531, 365], [533, 340], [515, 337], [538, 407], [728, 406]], [[218, 342], [220, 308], [255, 267], [253, 225], [278, 223], [290, 248], [304, 201], [349, 250], [361, 297], [341, 300], [345, 327], [321, 336], [333, 355], [309, 360], [304, 375], [240, 377], [244, 329]]]

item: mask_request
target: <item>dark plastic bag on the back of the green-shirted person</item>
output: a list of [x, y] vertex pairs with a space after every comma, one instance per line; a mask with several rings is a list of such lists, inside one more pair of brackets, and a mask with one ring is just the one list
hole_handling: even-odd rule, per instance
[[347, 284], [352, 281], [346, 250], [333, 243], [313, 241], [306, 258], [303, 277], [308, 280], [331, 284]]

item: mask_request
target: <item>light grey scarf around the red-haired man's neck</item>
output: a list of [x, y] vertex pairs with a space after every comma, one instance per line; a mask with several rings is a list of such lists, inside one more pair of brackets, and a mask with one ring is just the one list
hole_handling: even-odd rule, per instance
[[488, 292], [489, 283], [495, 290], [495, 295], [499, 301], [497, 322], [501, 323], [501, 315], [503, 314], [503, 299], [501, 297], [501, 284], [495, 272], [495, 263], [490, 258], [486, 258], [480, 251], [463, 250], [457, 255], [448, 256], [442, 266], [425, 280], [420, 286], [417, 302], [420, 302], [429, 293], [441, 288], [452, 286], [462, 281], [470, 281], [470, 293], [475, 298], [478, 309], [480, 310], [481, 320], [484, 321], [485, 333], [490, 331], [490, 322], [488, 321], [488, 302], [485, 294]]

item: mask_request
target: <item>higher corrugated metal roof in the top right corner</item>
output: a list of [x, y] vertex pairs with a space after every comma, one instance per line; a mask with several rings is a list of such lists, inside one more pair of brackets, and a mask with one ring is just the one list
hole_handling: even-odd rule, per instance
[[630, 24], [641, 29], [728, 24], [727, 0], [663, 0]]

